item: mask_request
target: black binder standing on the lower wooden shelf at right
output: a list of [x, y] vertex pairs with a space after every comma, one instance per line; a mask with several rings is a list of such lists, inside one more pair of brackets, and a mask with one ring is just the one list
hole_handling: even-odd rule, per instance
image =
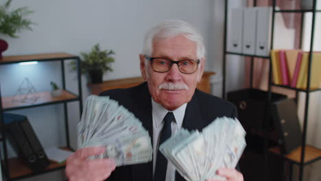
[[283, 154], [289, 154], [300, 147], [302, 133], [294, 99], [275, 102], [272, 104], [271, 114]]

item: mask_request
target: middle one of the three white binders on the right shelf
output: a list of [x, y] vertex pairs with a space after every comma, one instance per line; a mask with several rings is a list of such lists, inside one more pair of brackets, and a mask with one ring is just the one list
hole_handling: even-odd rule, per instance
[[255, 54], [255, 38], [257, 28], [257, 8], [244, 8], [242, 53]]

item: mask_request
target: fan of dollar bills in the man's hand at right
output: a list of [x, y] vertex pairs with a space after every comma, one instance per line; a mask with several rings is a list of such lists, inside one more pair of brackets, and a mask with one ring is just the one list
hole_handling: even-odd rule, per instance
[[186, 180], [222, 179], [216, 170], [235, 168], [246, 147], [246, 132], [237, 119], [217, 118], [202, 132], [180, 129], [160, 145], [164, 156]]

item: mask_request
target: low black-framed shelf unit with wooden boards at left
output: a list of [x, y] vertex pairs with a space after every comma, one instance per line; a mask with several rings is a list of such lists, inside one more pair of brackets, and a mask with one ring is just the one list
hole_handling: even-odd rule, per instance
[[[66, 80], [64, 73], [64, 60], [76, 60], [78, 71], [78, 95], [72, 93], [69, 90], [66, 90]], [[33, 173], [29, 167], [24, 165], [19, 158], [8, 158], [8, 150], [7, 150], [7, 136], [5, 133], [5, 125], [3, 123], [3, 112], [10, 110], [20, 110], [25, 108], [33, 108], [39, 106], [47, 106], [52, 104], [63, 104], [64, 106], [64, 126], [66, 132], [66, 147], [63, 149], [73, 150], [71, 149], [69, 142], [69, 126], [68, 126], [68, 109], [67, 103], [71, 101], [79, 102], [80, 115], [82, 112], [82, 82], [81, 82], [81, 73], [80, 73], [80, 58], [78, 56], [73, 56], [68, 53], [43, 53], [36, 55], [27, 55], [27, 56], [5, 56], [2, 60], [0, 60], [0, 66], [5, 64], [16, 64], [20, 62], [47, 62], [47, 61], [59, 61], [61, 66], [61, 74], [62, 74], [62, 95], [60, 97], [52, 97], [50, 92], [40, 92], [40, 93], [32, 93], [32, 95], [36, 95], [39, 98], [32, 104], [30, 103], [22, 103], [20, 101], [12, 101], [13, 96], [1, 97], [1, 88], [0, 88], [0, 123], [1, 123], [1, 139], [3, 145], [3, 159], [2, 159], [2, 168], [4, 171], [4, 175], [6, 180], [19, 180], [22, 178], [29, 178], [32, 176], [40, 175], [43, 173], [47, 173], [50, 171], [56, 171], [58, 169], [63, 169], [65, 167], [64, 163], [57, 163], [51, 161], [51, 164], [40, 173]], [[0, 84], [1, 85], [1, 84]]]

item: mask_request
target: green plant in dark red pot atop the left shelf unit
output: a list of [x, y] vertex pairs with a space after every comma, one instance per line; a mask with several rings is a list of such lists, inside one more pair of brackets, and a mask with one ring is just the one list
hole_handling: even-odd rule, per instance
[[[11, 1], [8, 0], [4, 5], [0, 5], [0, 34], [19, 38], [16, 35], [17, 32], [22, 29], [32, 30], [30, 25], [35, 23], [25, 18], [25, 16], [32, 14], [32, 11], [28, 10], [27, 7], [9, 11]], [[8, 43], [0, 38], [0, 59], [2, 58], [2, 52], [6, 49], [8, 49]]]

